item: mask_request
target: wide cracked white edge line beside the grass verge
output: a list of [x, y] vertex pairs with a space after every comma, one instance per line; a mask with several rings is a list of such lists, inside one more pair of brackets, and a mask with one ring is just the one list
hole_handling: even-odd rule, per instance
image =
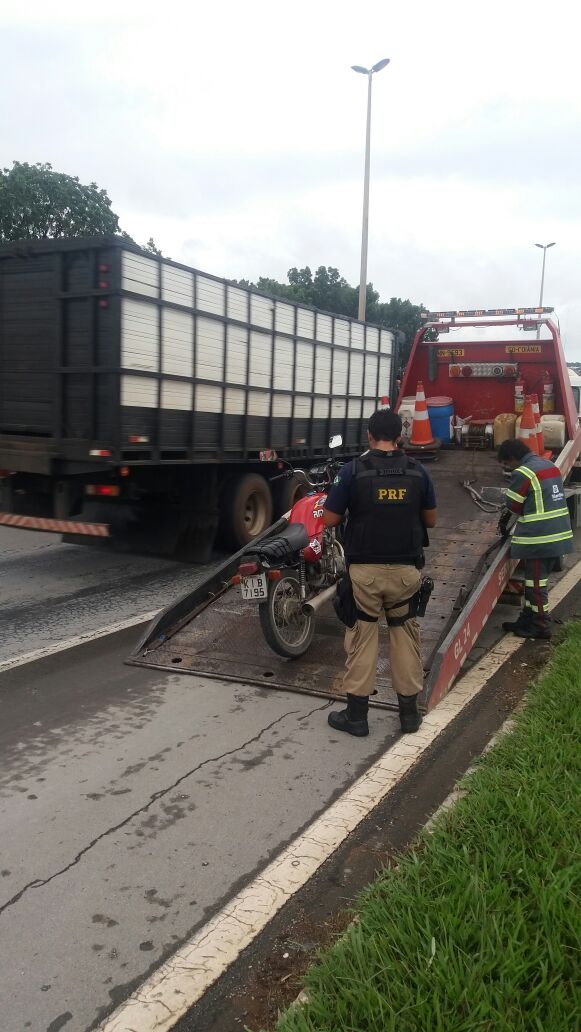
[[[580, 576], [581, 561], [550, 592], [553, 606], [562, 601]], [[501, 639], [424, 717], [415, 735], [397, 739], [341, 799], [121, 1004], [99, 1026], [100, 1032], [172, 1029], [525, 641], [512, 635]]]

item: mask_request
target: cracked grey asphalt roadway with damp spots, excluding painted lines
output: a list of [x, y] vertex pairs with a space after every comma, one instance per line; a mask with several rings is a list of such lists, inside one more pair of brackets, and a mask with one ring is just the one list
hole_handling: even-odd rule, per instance
[[[2, 657], [200, 576], [23, 539], [2, 531]], [[2, 1032], [93, 1027], [396, 734], [378, 714], [354, 746], [326, 701], [124, 666], [139, 634], [0, 674]]]

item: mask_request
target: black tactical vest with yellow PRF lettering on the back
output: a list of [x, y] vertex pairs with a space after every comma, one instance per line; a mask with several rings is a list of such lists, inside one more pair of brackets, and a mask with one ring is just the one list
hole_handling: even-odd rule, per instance
[[401, 452], [354, 459], [345, 550], [349, 562], [402, 562], [421, 568], [423, 477]]

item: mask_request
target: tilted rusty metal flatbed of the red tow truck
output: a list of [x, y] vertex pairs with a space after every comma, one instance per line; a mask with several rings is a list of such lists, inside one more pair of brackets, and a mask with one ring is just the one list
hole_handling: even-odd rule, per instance
[[[438, 527], [430, 530], [424, 571], [434, 581], [426, 615], [421, 620], [427, 684], [430, 671], [438, 665], [442, 643], [454, 628], [486, 570], [503, 551], [496, 536], [495, 514], [481, 511], [462, 483], [471, 481], [478, 490], [487, 486], [502, 487], [503, 476], [495, 454], [485, 450], [443, 450], [435, 461], [426, 465], [434, 481], [439, 511]], [[243, 603], [236, 588], [226, 587], [235, 569], [237, 561], [233, 557], [222, 568], [221, 578], [213, 575], [191, 595], [165, 610], [127, 662], [341, 698], [343, 627], [330, 604], [318, 614], [317, 632], [308, 653], [300, 659], [283, 659], [262, 638], [258, 610], [248, 602]], [[391, 707], [395, 699], [389, 677], [385, 625], [380, 635], [378, 695], [373, 701], [376, 705]], [[466, 644], [471, 643], [466, 639]], [[457, 658], [461, 660], [460, 655]]]

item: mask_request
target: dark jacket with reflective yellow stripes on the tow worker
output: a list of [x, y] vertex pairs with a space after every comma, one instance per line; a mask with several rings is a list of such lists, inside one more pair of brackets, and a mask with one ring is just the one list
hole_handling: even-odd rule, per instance
[[511, 555], [546, 559], [573, 551], [571, 517], [558, 466], [529, 452], [513, 471], [507, 498], [520, 509]]

